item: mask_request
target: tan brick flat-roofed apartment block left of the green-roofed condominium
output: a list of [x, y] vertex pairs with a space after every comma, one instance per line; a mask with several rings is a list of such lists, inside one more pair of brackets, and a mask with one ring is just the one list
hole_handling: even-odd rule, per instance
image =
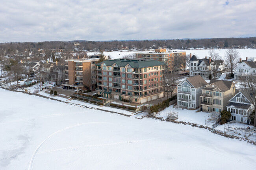
[[65, 69], [68, 85], [74, 88], [89, 90], [95, 88], [96, 71], [95, 64], [99, 58], [81, 58], [65, 60], [67, 68]]

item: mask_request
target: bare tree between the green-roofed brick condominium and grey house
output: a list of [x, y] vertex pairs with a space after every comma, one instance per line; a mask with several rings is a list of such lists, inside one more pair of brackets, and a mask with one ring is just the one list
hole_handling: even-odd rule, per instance
[[171, 97], [173, 97], [173, 91], [176, 88], [177, 82], [179, 80], [179, 75], [177, 73], [169, 73], [165, 74], [165, 78], [163, 81], [163, 88], [167, 95], [167, 99], [169, 99], [169, 94], [171, 93]]

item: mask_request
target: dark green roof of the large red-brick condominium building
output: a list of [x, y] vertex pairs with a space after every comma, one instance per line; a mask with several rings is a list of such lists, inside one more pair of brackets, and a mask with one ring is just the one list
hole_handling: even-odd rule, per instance
[[159, 62], [156, 60], [115, 59], [99, 62], [98, 64], [96, 64], [96, 66], [101, 66], [102, 63], [106, 64], [106, 66], [113, 66], [113, 64], [116, 63], [118, 67], [125, 67], [127, 64], [129, 64], [132, 68], [147, 68], [165, 65], [163, 62]]

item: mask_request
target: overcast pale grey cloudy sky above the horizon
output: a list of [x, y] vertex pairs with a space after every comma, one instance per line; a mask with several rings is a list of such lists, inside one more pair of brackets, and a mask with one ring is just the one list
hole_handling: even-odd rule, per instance
[[0, 42], [256, 36], [256, 0], [3, 0]]

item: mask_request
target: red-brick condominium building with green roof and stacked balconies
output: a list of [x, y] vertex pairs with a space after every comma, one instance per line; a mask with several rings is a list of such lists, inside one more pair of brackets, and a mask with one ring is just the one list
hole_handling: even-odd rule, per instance
[[115, 59], [96, 64], [98, 94], [145, 103], [164, 96], [164, 64], [156, 60]]

